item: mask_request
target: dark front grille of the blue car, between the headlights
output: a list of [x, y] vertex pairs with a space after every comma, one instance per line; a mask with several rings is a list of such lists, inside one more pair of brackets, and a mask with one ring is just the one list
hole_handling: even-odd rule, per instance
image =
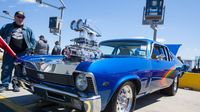
[[[74, 79], [71, 75], [40, 72], [30, 68], [26, 68], [26, 73], [28, 77], [31, 77], [33, 79], [64, 86], [74, 86]], [[44, 77], [41, 79], [39, 78], [38, 74], [42, 74]]]

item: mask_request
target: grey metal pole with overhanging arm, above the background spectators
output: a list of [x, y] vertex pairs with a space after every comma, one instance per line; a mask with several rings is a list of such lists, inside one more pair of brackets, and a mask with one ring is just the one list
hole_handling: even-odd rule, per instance
[[[62, 4], [61, 7], [57, 7], [57, 6], [54, 6], [52, 4], [46, 3], [43, 0], [36, 0], [36, 2], [39, 3], [39, 4], [44, 4], [44, 5], [47, 5], [47, 6], [50, 6], [50, 7], [53, 7], [53, 8], [56, 8], [56, 9], [60, 10], [60, 19], [61, 19], [61, 22], [62, 22], [64, 9], [66, 7], [65, 7], [65, 4], [64, 4], [64, 2], [62, 0], [59, 0], [59, 1]], [[61, 28], [59, 29], [59, 43], [61, 44]]]

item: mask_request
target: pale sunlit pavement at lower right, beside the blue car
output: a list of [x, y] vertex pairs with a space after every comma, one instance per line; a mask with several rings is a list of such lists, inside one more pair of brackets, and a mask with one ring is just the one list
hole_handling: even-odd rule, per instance
[[137, 100], [136, 112], [200, 112], [200, 92], [179, 89], [175, 96], [153, 93]]

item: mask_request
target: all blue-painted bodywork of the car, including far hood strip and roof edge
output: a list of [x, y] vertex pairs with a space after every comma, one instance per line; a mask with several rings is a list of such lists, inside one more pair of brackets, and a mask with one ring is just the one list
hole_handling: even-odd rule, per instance
[[[130, 41], [135, 39], [116, 39], [110, 41]], [[81, 62], [76, 70], [83, 72], [91, 72], [96, 79], [96, 86], [99, 95], [101, 96], [102, 110], [111, 100], [112, 96], [116, 93], [117, 89], [126, 81], [136, 80], [138, 86], [138, 96], [142, 96], [164, 87], [169, 87], [173, 79], [180, 74], [182, 64], [173, 55], [174, 60], [170, 62], [157, 61], [151, 59], [152, 44], [160, 44], [148, 39], [140, 39], [147, 42], [147, 57], [130, 57], [130, 56], [109, 56], [99, 60]], [[49, 60], [61, 59], [58, 56], [25, 56], [22, 60], [26, 61], [40, 61], [44, 58], [45, 62]], [[158, 66], [159, 65], [159, 66]], [[162, 85], [160, 82], [170, 68], [175, 67], [175, 72], [168, 78], [166, 83]], [[107, 85], [104, 85], [107, 83]], [[52, 86], [54, 84], [51, 84]], [[63, 86], [54, 85], [54, 87], [65, 88]], [[57, 88], [56, 87], [56, 88]]]

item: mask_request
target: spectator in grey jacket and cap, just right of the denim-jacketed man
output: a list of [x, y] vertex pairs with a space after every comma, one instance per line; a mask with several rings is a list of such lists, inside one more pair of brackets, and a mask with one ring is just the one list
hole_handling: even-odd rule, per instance
[[45, 55], [49, 53], [49, 45], [43, 35], [39, 36], [39, 40], [36, 43], [35, 54]]

